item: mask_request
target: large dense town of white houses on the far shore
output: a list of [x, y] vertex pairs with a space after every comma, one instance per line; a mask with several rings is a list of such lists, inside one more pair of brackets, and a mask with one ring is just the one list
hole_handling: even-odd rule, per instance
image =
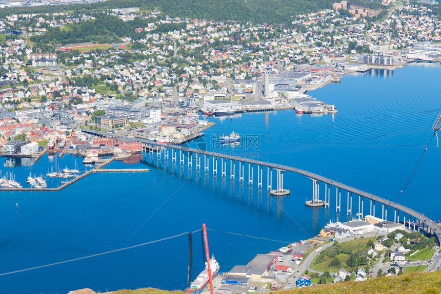
[[[350, 4], [299, 15], [292, 28], [115, 9], [110, 16], [148, 25], [118, 44], [50, 48], [30, 40], [97, 16], [9, 15], [0, 19], [6, 32], [0, 48], [2, 151], [37, 154], [55, 140], [81, 152], [86, 141], [87, 148], [96, 146], [84, 129], [180, 144], [203, 135], [213, 125], [210, 115], [282, 109], [334, 114], [338, 106], [305, 93], [348, 73], [440, 60], [441, 26], [430, 6], [395, 3], [385, 20], [367, 22], [363, 15], [340, 14], [343, 5]], [[23, 153], [28, 141], [39, 149], [26, 145]]]

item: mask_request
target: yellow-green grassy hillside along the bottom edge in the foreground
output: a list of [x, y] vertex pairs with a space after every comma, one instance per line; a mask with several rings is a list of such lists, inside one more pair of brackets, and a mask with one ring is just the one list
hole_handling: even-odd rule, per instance
[[[119, 290], [112, 294], [181, 294], [183, 291], [164, 291], [153, 288]], [[316, 285], [306, 288], [277, 291], [278, 294], [340, 294], [340, 293], [424, 293], [441, 294], [441, 270], [414, 272], [397, 277], [380, 277], [365, 282], [342, 282], [337, 284]]]

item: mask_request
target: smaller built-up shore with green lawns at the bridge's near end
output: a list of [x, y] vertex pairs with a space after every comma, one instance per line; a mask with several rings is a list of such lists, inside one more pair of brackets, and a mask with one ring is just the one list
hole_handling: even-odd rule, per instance
[[224, 294], [268, 292], [439, 268], [441, 250], [418, 226], [371, 215], [329, 222], [311, 239], [257, 254], [247, 265], [232, 267], [216, 277], [213, 285]]

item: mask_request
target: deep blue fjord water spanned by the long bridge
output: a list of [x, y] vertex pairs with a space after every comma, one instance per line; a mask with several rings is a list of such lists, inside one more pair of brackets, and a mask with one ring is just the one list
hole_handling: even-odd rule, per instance
[[[440, 76], [441, 67], [428, 64], [347, 75], [339, 84], [309, 93], [335, 104], [336, 115], [296, 115], [287, 110], [209, 118], [215, 127], [190, 145], [293, 165], [395, 200], [432, 137], [432, 123], [441, 107]], [[212, 142], [231, 131], [248, 135], [250, 143], [225, 150]], [[209, 232], [210, 251], [222, 270], [229, 270], [284, 242], [309, 238], [337, 217], [334, 198], [330, 209], [305, 206], [305, 199], [311, 198], [311, 180], [300, 176], [285, 174], [285, 187], [291, 195], [276, 199], [265, 191], [266, 170], [264, 190], [260, 191], [256, 184], [252, 188], [238, 184], [237, 177], [232, 182], [220, 175], [213, 178], [198, 173], [194, 164], [189, 172], [164, 160], [157, 163], [155, 157], [144, 159], [130, 166], [148, 167], [150, 173], [92, 174], [56, 193], [3, 192], [0, 274], [189, 232], [203, 222], [217, 230]], [[3, 175], [12, 172], [25, 184], [31, 170], [46, 174], [51, 167], [73, 167], [75, 161], [84, 169], [81, 159], [71, 155], [51, 160], [45, 156], [32, 166], [26, 160], [11, 163], [2, 158], [0, 166]], [[440, 219], [441, 188], [435, 186], [440, 163], [441, 149], [433, 139], [397, 201]], [[124, 166], [128, 165], [109, 165]], [[257, 171], [254, 178], [256, 181]], [[50, 182], [51, 186], [57, 184], [56, 180]], [[346, 194], [342, 194], [339, 218], [346, 219]], [[322, 199], [323, 195], [322, 190]], [[365, 214], [369, 212], [367, 202]], [[377, 208], [377, 215], [379, 211]], [[203, 268], [199, 233], [193, 236], [193, 245], [194, 278]], [[0, 292], [66, 293], [83, 287], [101, 291], [147, 286], [183, 289], [186, 280], [187, 236], [182, 236], [0, 276]]]

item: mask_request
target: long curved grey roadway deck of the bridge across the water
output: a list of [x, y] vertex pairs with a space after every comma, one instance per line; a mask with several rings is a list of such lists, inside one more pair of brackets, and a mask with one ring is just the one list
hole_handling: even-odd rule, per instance
[[[441, 230], [438, 227], [438, 225], [431, 219], [429, 219], [428, 217], [426, 217], [423, 214], [420, 214], [416, 211], [414, 211], [413, 209], [406, 207], [402, 204], [398, 204], [398, 203], [393, 203], [390, 200], [378, 197], [376, 195], [373, 195], [371, 193], [367, 193], [365, 191], [359, 190], [357, 188], [345, 185], [343, 183], [340, 182], [336, 182], [333, 181], [329, 178], [326, 178], [324, 176], [320, 176], [302, 169], [297, 169], [295, 167], [292, 166], [288, 166], [288, 165], [283, 165], [283, 164], [277, 164], [277, 163], [270, 163], [270, 162], [265, 162], [265, 161], [261, 161], [261, 160], [254, 160], [254, 159], [248, 159], [248, 158], [242, 158], [239, 156], [234, 156], [234, 155], [230, 155], [230, 154], [223, 154], [223, 153], [218, 153], [218, 152], [211, 152], [211, 151], [205, 151], [205, 150], [198, 150], [198, 149], [193, 149], [193, 148], [188, 148], [188, 147], [184, 147], [184, 146], [179, 146], [179, 145], [171, 145], [171, 144], [161, 144], [158, 142], [154, 142], [154, 141], [150, 141], [147, 139], [143, 139], [141, 137], [135, 137], [134, 140], [141, 142], [141, 143], [145, 143], [145, 144], [150, 144], [150, 145], [155, 145], [155, 146], [163, 146], [166, 148], [171, 148], [171, 149], [175, 149], [175, 150], [181, 150], [184, 152], [192, 152], [192, 153], [198, 153], [198, 154], [203, 154], [203, 155], [207, 155], [207, 156], [212, 156], [212, 157], [218, 157], [218, 158], [224, 158], [224, 159], [230, 159], [230, 160], [236, 160], [236, 161], [241, 161], [241, 162], [246, 162], [246, 163], [250, 163], [250, 164], [256, 164], [256, 165], [261, 165], [261, 166], [267, 166], [270, 167], [270, 169], [275, 169], [275, 170], [280, 170], [280, 171], [287, 171], [287, 172], [293, 172], [299, 175], [303, 175], [306, 176], [310, 179], [316, 180], [318, 182], [323, 182], [323, 183], [327, 183], [329, 185], [335, 186], [337, 188], [340, 188], [342, 190], [351, 192], [353, 194], [359, 195], [361, 197], [365, 197], [368, 199], [371, 199], [372, 201], [378, 202], [378, 203], [382, 203], [386, 206], [398, 209], [398, 211], [401, 211], [403, 213], [407, 213], [410, 216], [413, 216], [414, 218], [423, 221], [424, 224], [426, 226], [428, 226], [429, 228], [432, 229], [432, 233], [433, 235], [436, 237], [438, 244], [441, 245]], [[410, 218], [409, 218], [410, 220]]]

